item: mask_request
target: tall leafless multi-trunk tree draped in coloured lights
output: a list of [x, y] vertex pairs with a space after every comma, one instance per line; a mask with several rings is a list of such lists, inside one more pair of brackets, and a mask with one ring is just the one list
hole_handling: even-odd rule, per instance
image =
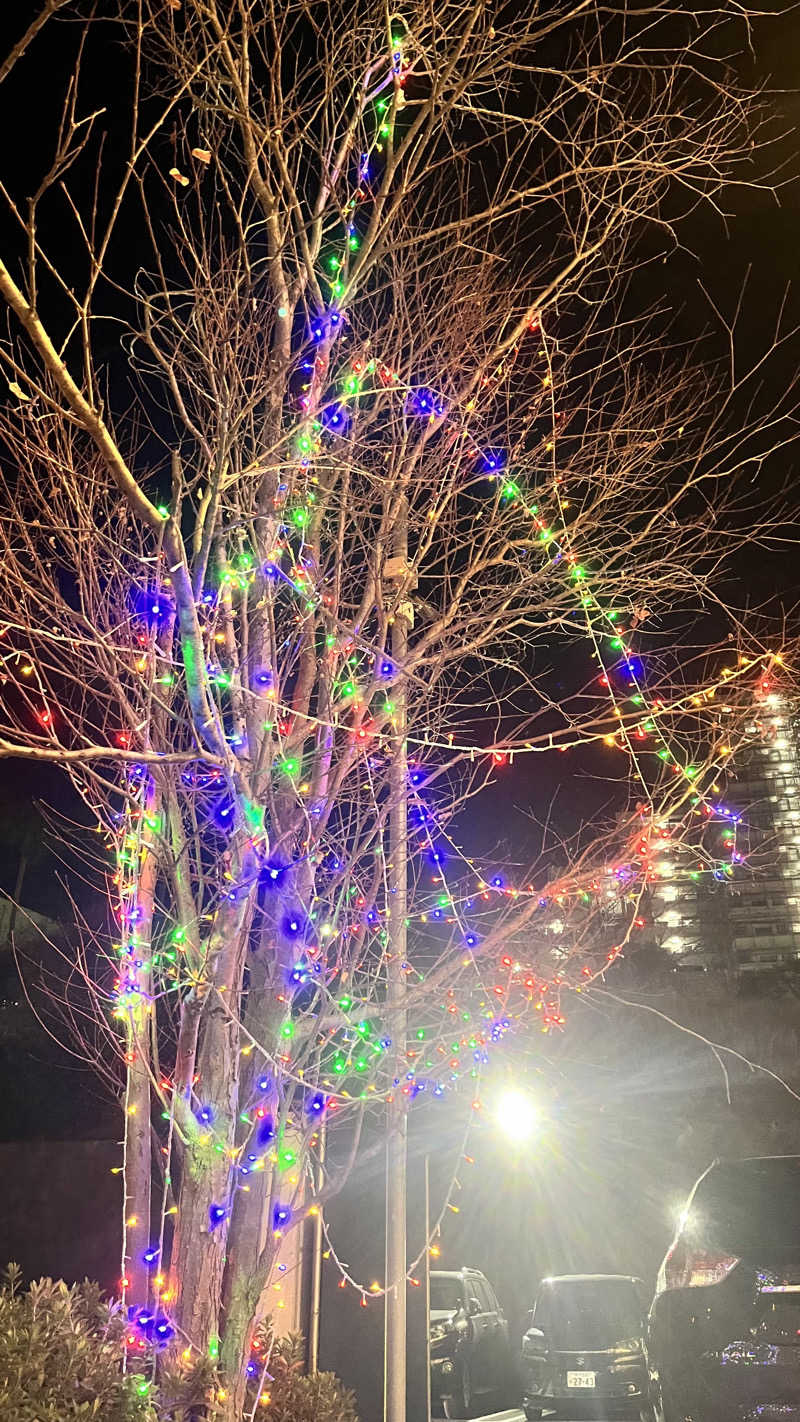
[[[635, 294], [766, 118], [713, 58], [740, 7], [67, 0], [0, 81], [54, 10], [53, 162], [3, 189], [0, 752], [97, 825], [117, 927], [82, 923], [71, 1012], [122, 1081], [124, 1294], [219, 1351], [236, 1418], [365, 1112], [563, 1021], [713, 798], [722, 671], [772, 665], [719, 572], [780, 520], [752, 475], [791, 395], [742, 428], [766, 356], [701, 368]], [[708, 611], [743, 661], [681, 647]], [[614, 813], [487, 880], [460, 812], [593, 742]]]

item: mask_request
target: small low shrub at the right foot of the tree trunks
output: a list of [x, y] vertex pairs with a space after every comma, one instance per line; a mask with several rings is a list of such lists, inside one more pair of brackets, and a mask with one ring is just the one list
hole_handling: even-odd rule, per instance
[[[257, 1406], [264, 1422], [358, 1422], [355, 1398], [341, 1385], [335, 1374], [304, 1372], [303, 1338], [277, 1338], [271, 1342], [269, 1325], [257, 1337], [260, 1355], [267, 1357], [264, 1398], [267, 1406]], [[249, 1415], [250, 1409], [247, 1409]]]

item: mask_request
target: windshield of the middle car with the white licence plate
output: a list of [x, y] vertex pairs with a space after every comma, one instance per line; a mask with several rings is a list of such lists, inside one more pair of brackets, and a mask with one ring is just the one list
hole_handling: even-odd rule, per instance
[[642, 1310], [628, 1280], [546, 1284], [534, 1324], [556, 1349], [612, 1348], [642, 1334]]

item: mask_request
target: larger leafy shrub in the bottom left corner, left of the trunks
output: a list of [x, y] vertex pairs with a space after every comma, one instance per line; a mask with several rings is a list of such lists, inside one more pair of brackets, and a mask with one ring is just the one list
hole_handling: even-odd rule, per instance
[[3, 1422], [156, 1422], [149, 1385], [122, 1376], [124, 1318], [97, 1284], [0, 1284]]

